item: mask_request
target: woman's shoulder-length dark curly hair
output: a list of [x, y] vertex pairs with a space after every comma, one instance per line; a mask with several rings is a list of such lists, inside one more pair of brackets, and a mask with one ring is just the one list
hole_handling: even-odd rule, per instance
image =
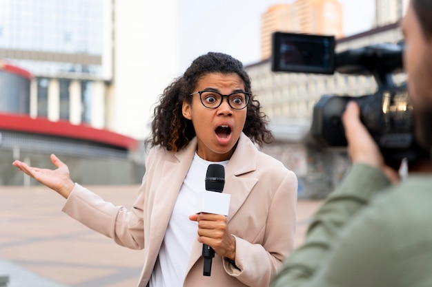
[[[182, 104], [186, 100], [192, 105], [189, 95], [194, 92], [199, 79], [210, 73], [235, 73], [242, 78], [245, 92], [252, 93], [251, 79], [243, 70], [243, 64], [240, 61], [219, 52], [208, 52], [208, 54], [199, 56], [183, 76], [176, 78], [164, 89], [164, 94], [159, 96], [159, 105], [154, 109], [151, 123], [152, 133], [146, 138], [146, 146], [160, 145], [168, 151], [175, 152], [188, 145], [195, 137], [195, 129], [192, 121], [184, 118], [181, 110]], [[267, 127], [267, 116], [261, 111], [261, 105], [258, 100], [255, 100], [255, 95], [252, 94], [246, 108], [244, 134], [259, 146], [273, 142], [273, 135]]]

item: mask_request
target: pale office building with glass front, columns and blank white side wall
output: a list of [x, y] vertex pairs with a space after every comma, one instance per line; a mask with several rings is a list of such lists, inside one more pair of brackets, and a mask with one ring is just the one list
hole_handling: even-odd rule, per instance
[[34, 76], [30, 116], [147, 136], [151, 105], [177, 76], [176, 0], [1, 6], [0, 58]]

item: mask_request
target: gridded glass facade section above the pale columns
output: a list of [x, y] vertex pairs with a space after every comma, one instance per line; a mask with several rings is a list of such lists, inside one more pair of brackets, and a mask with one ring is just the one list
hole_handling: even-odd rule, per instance
[[0, 54], [33, 74], [102, 76], [104, 0], [3, 0]]

